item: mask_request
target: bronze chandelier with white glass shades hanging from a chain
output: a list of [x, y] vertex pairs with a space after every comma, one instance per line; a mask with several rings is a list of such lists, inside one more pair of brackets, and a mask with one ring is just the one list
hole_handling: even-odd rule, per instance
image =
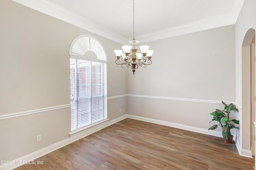
[[[138, 67], [144, 67], [146, 68], [147, 65], [150, 65], [152, 63], [151, 57], [153, 50], [148, 50], [148, 45], [141, 45], [140, 46], [140, 52], [137, 53], [138, 49], [136, 47], [136, 44], [139, 43], [138, 40], [135, 40], [134, 38], [134, 0], [133, 0], [133, 39], [129, 41], [129, 43], [132, 43], [132, 45], [123, 45], [122, 49], [116, 49], [114, 50], [116, 54], [116, 64], [121, 65], [122, 68], [126, 67], [126, 69], [130, 68], [132, 69], [132, 73], [134, 75], [134, 72]], [[124, 52], [123, 52], [124, 51]], [[123, 61], [121, 62], [122, 59]]]

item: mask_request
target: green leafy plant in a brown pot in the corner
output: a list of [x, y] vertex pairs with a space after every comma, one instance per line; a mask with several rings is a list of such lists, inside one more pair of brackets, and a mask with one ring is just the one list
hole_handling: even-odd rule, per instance
[[[236, 125], [239, 124], [239, 121], [236, 119], [229, 120], [229, 114], [231, 113], [231, 111], [238, 111], [238, 109], [236, 109], [236, 105], [232, 103], [227, 105], [226, 103], [224, 103], [224, 101], [222, 101], [222, 104], [225, 105], [224, 110], [221, 111], [219, 109], [216, 109], [216, 111], [210, 113], [210, 115], [213, 115], [212, 121], [217, 121], [218, 124], [222, 127], [223, 141], [226, 143], [232, 143], [233, 135], [231, 134], [230, 129], [238, 128], [236, 127]], [[218, 125], [213, 125], [208, 130], [214, 130], [217, 127]]]

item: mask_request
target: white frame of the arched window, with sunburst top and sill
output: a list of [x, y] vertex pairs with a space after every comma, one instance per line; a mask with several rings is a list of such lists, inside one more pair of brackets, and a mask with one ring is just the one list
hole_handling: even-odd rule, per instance
[[[87, 51], [93, 51], [96, 56], [97, 59], [91, 58], [91, 57], [86, 57], [86, 52]], [[102, 119], [97, 120], [97, 121], [92, 121], [90, 124], [86, 124], [85, 126], [78, 126], [76, 125], [76, 128], [72, 128], [72, 125], [70, 126], [70, 136], [80, 132], [81, 130], [84, 130], [86, 128], [90, 128], [94, 125], [98, 125], [100, 123], [103, 123], [105, 121], [108, 121], [108, 114], [107, 114], [107, 57], [106, 57], [106, 52], [103, 48], [103, 46], [101, 45], [101, 43], [94, 37], [89, 36], [89, 35], [81, 35], [78, 36], [77, 38], [75, 38], [73, 40], [73, 42], [70, 45], [70, 107], [72, 108], [72, 96], [71, 96], [71, 60], [76, 60], [77, 61], [85, 61], [85, 62], [90, 62], [90, 68], [92, 68], [92, 63], [100, 63], [101, 65], [101, 82], [102, 84], [102, 95], [98, 96], [100, 97], [100, 99], [102, 100]], [[77, 69], [77, 65], [76, 65], [76, 69]], [[76, 73], [78, 76], [78, 73]], [[76, 77], [76, 81], [78, 81], [79, 78]], [[92, 82], [91, 82], [92, 83]], [[77, 82], [76, 85], [79, 85], [79, 82]], [[92, 84], [90, 84], [90, 86], [92, 86]], [[91, 87], [90, 87], [91, 88]], [[91, 91], [92, 89], [90, 89], [90, 93], [92, 93]], [[76, 88], [76, 91], [78, 91], [78, 88]], [[77, 94], [76, 94], [77, 95]], [[78, 100], [79, 97], [76, 97], [76, 100]], [[93, 96], [90, 95], [90, 100], [92, 100]], [[78, 105], [78, 103], [76, 103], [76, 105]], [[90, 105], [90, 107], [92, 108], [92, 105]], [[71, 111], [72, 112], [72, 111]], [[72, 113], [71, 113], [72, 114]], [[98, 113], [97, 113], [98, 114]], [[97, 115], [96, 114], [96, 115]], [[72, 115], [70, 115], [71, 117], [71, 124], [72, 124]], [[92, 110], [90, 112], [90, 117], [92, 117]], [[77, 118], [76, 118], [76, 121]]]

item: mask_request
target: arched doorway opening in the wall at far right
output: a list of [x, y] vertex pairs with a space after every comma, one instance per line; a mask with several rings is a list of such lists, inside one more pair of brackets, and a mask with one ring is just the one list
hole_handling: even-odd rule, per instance
[[252, 123], [255, 122], [255, 72], [251, 71], [251, 67], [255, 68], [255, 59], [251, 61], [251, 43], [254, 35], [255, 30], [249, 29], [242, 43], [242, 152], [247, 152], [244, 155], [254, 153], [251, 143], [255, 141], [251, 135]]

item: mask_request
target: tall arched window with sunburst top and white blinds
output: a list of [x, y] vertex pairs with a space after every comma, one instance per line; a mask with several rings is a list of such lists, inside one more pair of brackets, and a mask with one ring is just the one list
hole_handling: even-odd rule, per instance
[[107, 119], [106, 53], [92, 36], [70, 46], [71, 130]]

